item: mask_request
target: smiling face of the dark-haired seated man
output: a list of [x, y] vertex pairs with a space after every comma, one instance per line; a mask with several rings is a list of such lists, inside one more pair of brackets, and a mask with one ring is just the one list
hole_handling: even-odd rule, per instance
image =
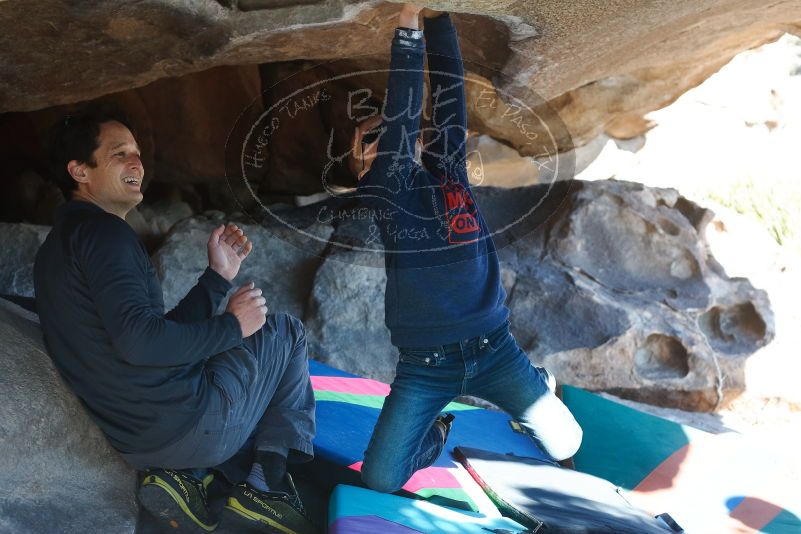
[[100, 125], [98, 144], [92, 153], [96, 166], [75, 161], [68, 165], [78, 182], [75, 196], [125, 218], [143, 198], [145, 170], [139, 146], [131, 131], [116, 121]]

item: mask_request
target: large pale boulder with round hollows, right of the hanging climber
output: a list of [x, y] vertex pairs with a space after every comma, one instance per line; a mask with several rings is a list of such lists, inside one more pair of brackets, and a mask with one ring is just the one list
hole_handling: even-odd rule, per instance
[[773, 316], [765, 292], [710, 255], [711, 212], [616, 181], [585, 182], [569, 203], [544, 236], [502, 252], [516, 273], [513, 331], [532, 359], [561, 380], [663, 406], [712, 410], [742, 392]]

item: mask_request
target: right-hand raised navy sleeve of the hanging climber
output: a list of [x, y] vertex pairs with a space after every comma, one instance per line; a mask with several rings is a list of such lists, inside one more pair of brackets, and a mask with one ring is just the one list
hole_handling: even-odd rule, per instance
[[466, 182], [467, 109], [456, 28], [447, 13], [426, 18], [424, 23], [433, 132], [426, 142], [423, 164], [437, 177], [445, 174]]

